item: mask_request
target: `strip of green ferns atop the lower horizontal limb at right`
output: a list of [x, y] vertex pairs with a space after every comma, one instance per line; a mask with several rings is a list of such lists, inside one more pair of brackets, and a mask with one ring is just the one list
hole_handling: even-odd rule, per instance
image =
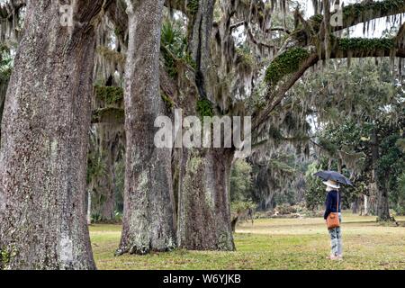
[[338, 39], [338, 49], [349, 51], [355, 49], [374, 51], [376, 49], [393, 49], [395, 42], [393, 39], [370, 39], [370, 38], [343, 38]]

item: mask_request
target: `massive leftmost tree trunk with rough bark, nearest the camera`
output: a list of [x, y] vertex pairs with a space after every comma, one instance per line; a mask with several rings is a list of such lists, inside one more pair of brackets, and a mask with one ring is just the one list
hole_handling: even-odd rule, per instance
[[2, 123], [0, 267], [94, 269], [85, 175], [99, 1], [63, 27], [56, 1], [29, 1]]

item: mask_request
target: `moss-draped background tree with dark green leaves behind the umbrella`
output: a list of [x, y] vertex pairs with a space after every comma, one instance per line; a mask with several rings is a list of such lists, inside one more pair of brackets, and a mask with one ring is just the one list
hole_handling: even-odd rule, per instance
[[[402, 83], [392, 75], [389, 61], [382, 60], [377, 66], [374, 61], [362, 60], [354, 61], [350, 68], [336, 63], [326, 68], [322, 76], [302, 84], [305, 92], [300, 90], [302, 99], [305, 94], [317, 94], [320, 99], [309, 104], [316, 111], [313, 115], [317, 121], [326, 124], [320, 129], [317, 142], [313, 142], [315, 147], [330, 160], [335, 159], [338, 170], [347, 166], [350, 175], [356, 177], [358, 189], [366, 184], [368, 191], [364, 193], [372, 197], [381, 220], [390, 219], [389, 193], [395, 190], [387, 185], [390, 175], [396, 179], [401, 172], [395, 168], [396, 164], [401, 166], [399, 150], [392, 151], [398, 157], [395, 163], [390, 162], [392, 171], [381, 158], [390, 151], [382, 143], [392, 137], [401, 138]], [[323, 168], [330, 168], [330, 161]]]

